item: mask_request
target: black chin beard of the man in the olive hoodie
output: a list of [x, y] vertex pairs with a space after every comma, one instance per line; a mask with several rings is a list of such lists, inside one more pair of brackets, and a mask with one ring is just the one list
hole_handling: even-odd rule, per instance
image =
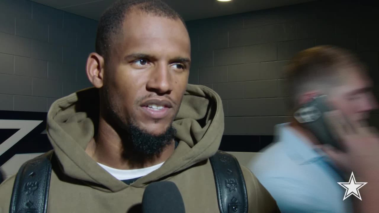
[[[173, 142], [172, 139], [174, 139], [176, 134], [176, 130], [172, 125], [160, 135], [152, 135], [130, 121], [127, 125], [127, 131], [130, 138], [129, 141], [132, 142], [134, 154], [142, 155], [144, 158], [152, 158], [162, 153], [163, 149]], [[130, 146], [130, 144], [124, 144], [125, 146]]]

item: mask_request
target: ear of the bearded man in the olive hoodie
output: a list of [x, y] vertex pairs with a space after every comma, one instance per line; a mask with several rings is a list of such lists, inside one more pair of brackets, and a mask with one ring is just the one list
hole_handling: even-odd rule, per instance
[[97, 53], [89, 54], [86, 73], [92, 85], [96, 88], [101, 88], [104, 80], [104, 58]]

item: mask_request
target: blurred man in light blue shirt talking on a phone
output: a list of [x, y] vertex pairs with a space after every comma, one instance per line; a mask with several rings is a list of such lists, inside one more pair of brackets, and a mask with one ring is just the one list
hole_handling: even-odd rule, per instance
[[[283, 213], [378, 212], [379, 140], [367, 121], [377, 102], [364, 64], [348, 50], [318, 46], [298, 53], [285, 74], [291, 121], [276, 125], [274, 142], [249, 169]], [[294, 117], [317, 97], [330, 107], [319, 114], [326, 127], [320, 133], [335, 141], [321, 143], [313, 132], [320, 130]], [[343, 200], [346, 190], [337, 182], [349, 182], [352, 172], [356, 182], [367, 182], [359, 189], [362, 200]]]

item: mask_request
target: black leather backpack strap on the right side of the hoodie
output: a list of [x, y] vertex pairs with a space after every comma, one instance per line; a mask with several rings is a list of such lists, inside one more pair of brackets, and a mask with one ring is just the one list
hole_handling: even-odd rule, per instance
[[247, 213], [246, 184], [238, 160], [217, 151], [209, 158], [215, 176], [220, 213]]

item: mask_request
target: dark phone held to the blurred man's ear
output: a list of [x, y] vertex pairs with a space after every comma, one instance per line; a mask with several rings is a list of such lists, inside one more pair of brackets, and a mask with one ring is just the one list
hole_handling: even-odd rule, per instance
[[294, 118], [302, 127], [313, 133], [321, 144], [330, 144], [344, 151], [343, 147], [338, 143], [338, 139], [330, 131], [331, 127], [323, 116], [324, 113], [333, 110], [330, 105], [326, 104], [326, 98], [326, 95], [314, 97], [295, 111]]

